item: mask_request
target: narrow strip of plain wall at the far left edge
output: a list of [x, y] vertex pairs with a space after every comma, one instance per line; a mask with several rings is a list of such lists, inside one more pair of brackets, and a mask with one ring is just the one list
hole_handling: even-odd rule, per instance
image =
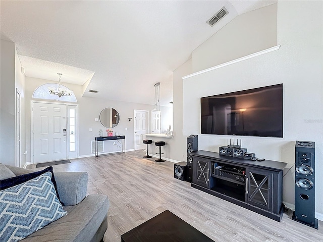
[[0, 162], [15, 165], [15, 44], [1, 39]]

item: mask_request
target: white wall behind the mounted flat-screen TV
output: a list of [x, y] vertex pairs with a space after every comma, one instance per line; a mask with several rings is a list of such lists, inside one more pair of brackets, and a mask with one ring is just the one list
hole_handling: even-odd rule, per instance
[[[284, 138], [238, 138], [257, 157], [287, 162], [287, 168], [295, 163], [296, 140], [315, 141], [315, 166], [322, 167], [322, 2], [279, 1], [277, 16], [279, 50], [184, 80], [184, 136], [200, 134], [200, 97], [283, 83]], [[224, 38], [223, 44], [230, 41]], [[193, 69], [198, 61], [193, 56]], [[218, 152], [230, 138], [199, 135], [199, 149]], [[315, 177], [316, 184], [323, 183], [322, 169], [316, 168]], [[283, 201], [294, 204], [294, 168], [283, 187]], [[315, 194], [316, 212], [322, 214], [323, 188], [316, 186]]]

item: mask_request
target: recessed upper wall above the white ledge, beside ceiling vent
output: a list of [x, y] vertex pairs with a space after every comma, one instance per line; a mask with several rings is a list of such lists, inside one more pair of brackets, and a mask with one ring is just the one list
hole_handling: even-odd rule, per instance
[[277, 44], [277, 4], [240, 15], [192, 52], [193, 72]]

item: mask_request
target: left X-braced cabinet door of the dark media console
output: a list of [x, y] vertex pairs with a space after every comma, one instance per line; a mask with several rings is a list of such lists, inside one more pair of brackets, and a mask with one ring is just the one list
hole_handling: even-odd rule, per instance
[[193, 183], [209, 188], [210, 164], [208, 159], [193, 158]]

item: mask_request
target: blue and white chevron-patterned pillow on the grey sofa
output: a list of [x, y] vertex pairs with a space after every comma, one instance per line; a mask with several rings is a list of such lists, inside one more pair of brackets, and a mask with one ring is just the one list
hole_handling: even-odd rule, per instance
[[0, 241], [19, 241], [65, 216], [48, 171], [0, 191]]

